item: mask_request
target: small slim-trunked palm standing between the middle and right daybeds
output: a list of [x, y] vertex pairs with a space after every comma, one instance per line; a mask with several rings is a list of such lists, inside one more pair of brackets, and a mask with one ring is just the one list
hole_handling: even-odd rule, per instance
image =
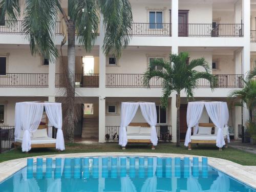
[[[167, 108], [170, 94], [176, 91], [176, 108], [177, 108], [177, 146], [180, 146], [180, 93], [185, 91], [187, 98], [193, 97], [194, 89], [198, 86], [198, 79], [207, 79], [211, 88], [214, 88], [216, 78], [209, 73], [209, 65], [204, 58], [193, 59], [187, 63], [188, 53], [170, 54], [169, 60], [154, 59], [144, 73], [143, 84], [150, 88], [150, 80], [153, 77], [162, 79], [161, 106]], [[162, 70], [156, 70], [156, 66]], [[194, 68], [202, 67], [205, 71], [199, 72]]]

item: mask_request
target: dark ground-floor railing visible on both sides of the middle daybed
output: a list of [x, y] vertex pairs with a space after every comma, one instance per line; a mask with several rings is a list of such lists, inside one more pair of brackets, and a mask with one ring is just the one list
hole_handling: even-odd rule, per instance
[[[167, 125], [168, 127], [168, 134], [172, 135], [172, 126], [171, 125]], [[105, 140], [106, 141], [118, 141], [119, 138], [119, 128], [120, 126], [105, 126]], [[156, 130], [157, 130], [157, 137], [158, 139], [163, 139], [161, 137], [161, 133], [160, 133], [160, 125], [156, 126]], [[167, 141], [168, 139], [165, 137]]]

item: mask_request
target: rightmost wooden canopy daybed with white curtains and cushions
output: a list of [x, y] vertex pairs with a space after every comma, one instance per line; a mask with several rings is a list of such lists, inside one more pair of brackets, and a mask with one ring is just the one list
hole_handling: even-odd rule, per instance
[[[204, 106], [212, 123], [199, 123]], [[191, 143], [212, 143], [222, 149], [229, 142], [228, 133], [228, 108], [226, 102], [221, 101], [197, 101], [188, 102], [187, 105], [187, 133], [185, 146], [191, 150]], [[193, 136], [191, 129], [194, 127]], [[212, 127], [215, 134], [211, 134]], [[226, 140], [226, 142], [225, 142]]]

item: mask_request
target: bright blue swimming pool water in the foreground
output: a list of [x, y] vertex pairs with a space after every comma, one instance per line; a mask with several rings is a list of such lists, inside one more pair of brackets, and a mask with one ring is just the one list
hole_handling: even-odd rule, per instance
[[0, 183], [0, 191], [248, 191], [207, 159], [92, 157], [37, 159]]

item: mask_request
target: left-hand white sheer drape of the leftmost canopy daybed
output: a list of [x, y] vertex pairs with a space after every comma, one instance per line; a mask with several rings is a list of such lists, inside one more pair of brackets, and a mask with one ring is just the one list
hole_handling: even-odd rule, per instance
[[17, 115], [15, 117], [15, 130], [17, 130], [15, 137], [19, 136], [21, 129], [24, 130], [22, 151], [28, 152], [31, 150], [30, 137], [40, 124], [42, 112], [44, 111], [44, 103], [20, 102], [16, 103], [15, 108], [15, 115]]

